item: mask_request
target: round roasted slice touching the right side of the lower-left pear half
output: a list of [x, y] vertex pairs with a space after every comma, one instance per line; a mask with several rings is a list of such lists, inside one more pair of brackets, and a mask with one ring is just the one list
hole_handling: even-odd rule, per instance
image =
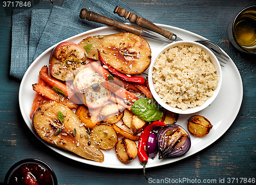
[[96, 144], [104, 150], [114, 148], [118, 142], [116, 131], [109, 124], [96, 125], [92, 129], [91, 135]]

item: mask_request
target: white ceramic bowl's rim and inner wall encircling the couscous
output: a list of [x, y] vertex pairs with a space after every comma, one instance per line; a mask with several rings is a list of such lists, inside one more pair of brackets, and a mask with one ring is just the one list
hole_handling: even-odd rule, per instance
[[[164, 103], [161, 98], [158, 96], [157, 92], [155, 91], [154, 89], [154, 84], [153, 84], [153, 79], [152, 79], [152, 71], [153, 71], [153, 67], [155, 65], [155, 62], [156, 62], [156, 59], [159, 58], [159, 56], [161, 54], [163, 54], [166, 50], [168, 50], [169, 48], [172, 48], [172, 47], [176, 47], [178, 45], [186, 45], [186, 46], [197, 46], [197, 47], [200, 47], [204, 52], [206, 52], [206, 54], [209, 55], [210, 57], [210, 62], [212, 64], [214, 64], [215, 68], [216, 68], [216, 71], [217, 71], [217, 74], [218, 74], [218, 77], [219, 77], [219, 82], [218, 82], [218, 86], [217, 88], [214, 90], [214, 95], [211, 96], [209, 99], [207, 99], [203, 105], [201, 106], [197, 106], [195, 108], [188, 108], [186, 110], [182, 110], [182, 109], [179, 109], [179, 108], [172, 108], [170, 107], [167, 103]], [[205, 47], [204, 45], [200, 44], [200, 43], [197, 43], [197, 42], [193, 42], [193, 41], [177, 41], [177, 42], [173, 42], [173, 43], [170, 43], [168, 45], [166, 45], [165, 47], [163, 47], [157, 54], [156, 56], [154, 57], [154, 59], [152, 60], [151, 62], [151, 65], [150, 65], [150, 68], [149, 68], [149, 71], [148, 71], [148, 83], [150, 85], [150, 90], [152, 92], [152, 95], [154, 96], [154, 98], [156, 99], [156, 101], [165, 109], [169, 110], [169, 111], [172, 111], [174, 113], [178, 113], [178, 114], [193, 114], [193, 113], [196, 113], [196, 112], [199, 112], [203, 109], [205, 109], [206, 107], [208, 107], [208, 105], [215, 100], [215, 98], [217, 97], [219, 91], [220, 91], [220, 88], [221, 88], [221, 84], [222, 84], [222, 72], [221, 72], [221, 66], [220, 66], [220, 63], [218, 61], [218, 59], [216, 58], [216, 56], [212, 53], [212, 51], [210, 51], [210, 49], [208, 49], [207, 47]]]

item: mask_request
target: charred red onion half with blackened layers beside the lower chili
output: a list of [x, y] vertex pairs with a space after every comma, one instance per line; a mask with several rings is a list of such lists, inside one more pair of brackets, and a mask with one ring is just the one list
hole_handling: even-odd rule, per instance
[[157, 133], [158, 158], [183, 155], [191, 147], [187, 131], [177, 124], [167, 124]]

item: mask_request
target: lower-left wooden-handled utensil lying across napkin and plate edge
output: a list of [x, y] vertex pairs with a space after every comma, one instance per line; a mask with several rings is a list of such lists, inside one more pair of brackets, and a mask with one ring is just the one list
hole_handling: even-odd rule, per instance
[[125, 23], [110, 19], [103, 15], [97, 14], [93, 11], [88, 11], [86, 8], [83, 8], [80, 11], [79, 17], [81, 19], [87, 19], [89, 21], [98, 22], [98, 23], [102, 23], [105, 25], [110, 25], [111, 27], [118, 28], [118, 29], [124, 30], [126, 32], [130, 32], [130, 33], [133, 33], [138, 36], [144, 36], [144, 37], [152, 38], [152, 39], [159, 40], [162, 42], [172, 43], [174, 41], [181, 40], [175, 34], [173, 34], [172, 38], [170, 38], [170, 39], [159, 37], [157, 35], [154, 35], [150, 32], [143, 30], [142, 28], [134, 27], [133, 25], [125, 24]]

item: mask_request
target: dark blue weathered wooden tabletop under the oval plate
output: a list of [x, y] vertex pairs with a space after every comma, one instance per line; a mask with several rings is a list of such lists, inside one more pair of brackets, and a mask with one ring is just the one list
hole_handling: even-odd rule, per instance
[[[0, 68], [0, 182], [8, 169], [24, 158], [39, 158], [55, 171], [59, 184], [147, 184], [141, 169], [120, 170], [75, 162], [49, 149], [26, 126], [18, 105], [20, 82], [9, 76], [11, 55], [11, 16], [1, 1], [2, 43]], [[173, 25], [206, 37], [220, 45], [237, 65], [243, 80], [242, 107], [227, 132], [214, 144], [182, 161], [147, 169], [152, 179], [255, 178], [256, 56], [243, 54], [228, 44], [226, 27], [234, 13], [255, 5], [253, 0], [122, 0], [155, 23]], [[54, 0], [53, 5], [62, 1]], [[34, 8], [51, 8], [40, 1]], [[81, 7], [83, 8], [83, 7]], [[227, 110], [228, 111], [228, 110]], [[191, 181], [190, 184], [192, 184]], [[233, 181], [233, 184], [237, 184]], [[153, 182], [152, 182], [153, 183]], [[181, 184], [181, 183], [175, 183]], [[184, 182], [184, 184], [186, 184]], [[199, 183], [193, 183], [199, 184]], [[212, 183], [202, 183], [212, 184]], [[244, 182], [239, 184], [245, 184]], [[248, 183], [249, 184], [249, 183]]]

